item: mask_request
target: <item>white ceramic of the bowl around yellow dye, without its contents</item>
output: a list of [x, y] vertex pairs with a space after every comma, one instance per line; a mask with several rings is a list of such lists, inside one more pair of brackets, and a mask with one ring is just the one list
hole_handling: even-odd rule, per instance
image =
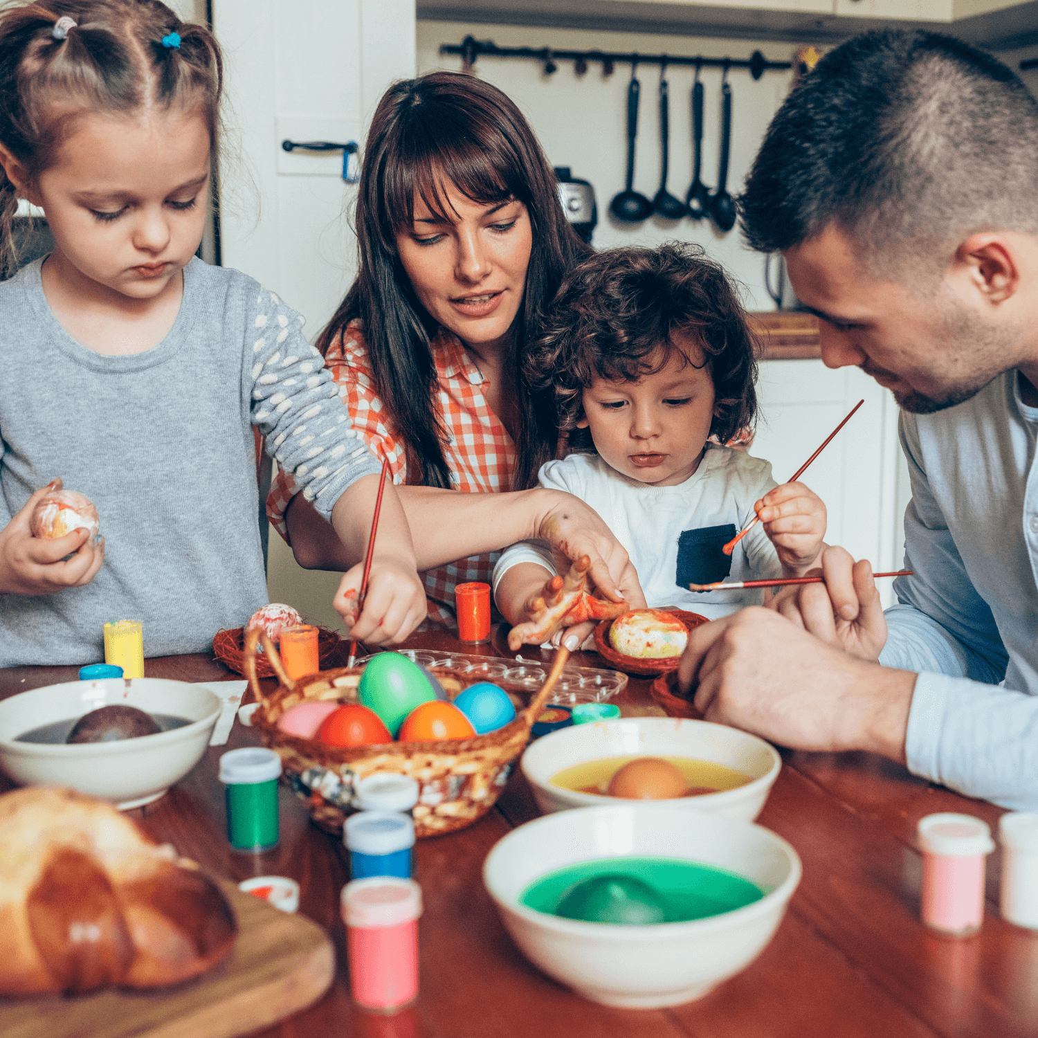
[[692, 811], [728, 815], [753, 821], [764, 807], [782, 758], [774, 746], [756, 735], [726, 725], [680, 717], [621, 717], [592, 725], [575, 725], [542, 736], [522, 755], [522, 771], [534, 789], [538, 807], [548, 814], [569, 808], [594, 808], [606, 803], [652, 803], [662, 801], [619, 800], [612, 796], [578, 793], [553, 786], [550, 778], [563, 768], [602, 757], [693, 757], [713, 761], [752, 776], [737, 789], [720, 793], [683, 796], [666, 803]]

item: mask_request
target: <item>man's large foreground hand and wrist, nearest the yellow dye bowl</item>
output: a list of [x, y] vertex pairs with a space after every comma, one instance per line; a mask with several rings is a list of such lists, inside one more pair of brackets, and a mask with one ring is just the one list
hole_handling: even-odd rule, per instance
[[854, 659], [772, 610], [693, 628], [678, 682], [695, 687], [707, 720], [794, 749], [867, 749], [904, 762], [916, 675]]

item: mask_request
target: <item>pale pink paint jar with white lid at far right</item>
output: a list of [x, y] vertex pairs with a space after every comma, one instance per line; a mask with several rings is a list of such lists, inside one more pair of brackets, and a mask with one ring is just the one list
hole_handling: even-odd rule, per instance
[[994, 850], [986, 822], [973, 815], [927, 815], [919, 822], [923, 851], [923, 922], [966, 937], [984, 919], [984, 858]]

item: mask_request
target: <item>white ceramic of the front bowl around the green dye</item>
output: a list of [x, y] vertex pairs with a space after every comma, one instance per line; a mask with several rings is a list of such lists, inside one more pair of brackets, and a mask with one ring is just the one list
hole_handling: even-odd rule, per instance
[[[656, 926], [584, 923], [519, 903], [522, 892], [549, 872], [632, 854], [728, 869], [765, 896], [720, 916]], [[785, 840], [754, 822], [663, 803], [604, 807], [520, 825], [491, 850], [483, 881], [512, 939], [549, 977], [592, 1002], [658, 1009], [702, 998], [760, 955], [800, 881], [800, 859]]]

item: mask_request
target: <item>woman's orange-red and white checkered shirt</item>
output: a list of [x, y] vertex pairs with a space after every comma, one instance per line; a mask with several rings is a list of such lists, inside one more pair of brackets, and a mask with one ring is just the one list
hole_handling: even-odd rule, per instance
[[[441, 329], [433, 339], [432, 351], [439, 380], [439, 416], [449, 437], [443, 447], [443, 457], [450, 470], [453, 488], [469, 494], [511, 490], [515, 444], [500, 418], [487, 404], [484, 394], [489, 383], [456, 335]], [[388, 456], [393, 483], [406, 483], [404, 441], [390, 433], [383, 422], [382, 402], [375, 392], [359, 322], [351, 322], [345, 334], [334, 339], [325, 356], [325, 366], [350, 409], [353, 428], [376, 454]], [[278, 472], [267, 498], [267, 515], [285, 541], [289, 530], [284, 512], [295, 493], [291, 473]], [[428, 623], [457, 628], [455, 586], [470, 580], [490, 583], [499, 555], [499, 551], [491, 551], [428, 570], [424, 574], [429, 599]], [[495, 619], [499, 618], [495, 614]]]

